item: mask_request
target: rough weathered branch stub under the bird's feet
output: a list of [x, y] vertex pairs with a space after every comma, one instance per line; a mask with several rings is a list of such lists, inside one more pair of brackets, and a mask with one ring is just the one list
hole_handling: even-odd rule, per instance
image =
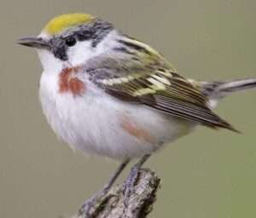
[[104, 196], [97, 199], [90, 209], [90, 215], [85, 213], [73, 218], [144, 218], [153, 209], [156, 192], [160, 187], [160, 178], [150, 169], [140, 169], [137, 181], [128, 200], [124, 204], [124, 184], [117, 185]]

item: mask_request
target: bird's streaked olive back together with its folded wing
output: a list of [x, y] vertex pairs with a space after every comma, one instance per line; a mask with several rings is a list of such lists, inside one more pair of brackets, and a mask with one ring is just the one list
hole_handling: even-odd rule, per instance
[[[120, 100], [134, 101], [208, 127], [236, 131], [208, 107], [207, 95], [202, 93], [200, 83], [177, 74], [159, 53], [144, 43], [132, 38], [124, 40], [128, 43], [119, 41], [122, 47], [125, 46], [119, 51], [122, 55], [97, 61], [99, 71], [96, 68], [91, 72], [90, 69], [92, 80], [99, 87]], [[134, 55], [137, 60], [144, 61], [132, 60]]]

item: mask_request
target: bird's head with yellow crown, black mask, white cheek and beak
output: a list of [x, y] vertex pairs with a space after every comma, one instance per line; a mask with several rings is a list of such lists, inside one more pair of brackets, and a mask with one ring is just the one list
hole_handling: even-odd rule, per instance
[[108, 49], [102, 42], [113, 31], [107, 21], [90, 14], [62, 14], [50, 20], [38, 37], [23, 37], [18, 43], [38, 50], [44, 71], [83, 64]]

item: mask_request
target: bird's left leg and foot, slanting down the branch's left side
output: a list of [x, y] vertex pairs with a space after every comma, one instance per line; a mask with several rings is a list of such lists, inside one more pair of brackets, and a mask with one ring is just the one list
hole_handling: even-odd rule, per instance
[[110, 188], [113, 186], [113, 183], [117, 180], [121, 172], [125, 169], [126, 165], [129, 164], [130, 159], [125, 160], [122, 164], [119, 164], [118, 169], [116, 169], [113, 175], [110, 177], [108, 183], [103, 187], [100, 192], [97, 192], [93, 197], [84, 202], [84, 204], [79, 209], [79, 215], [86, 214], [86, 217], [90, 217], [90, 209], [96, 203], [98, 198], [104, 196]]

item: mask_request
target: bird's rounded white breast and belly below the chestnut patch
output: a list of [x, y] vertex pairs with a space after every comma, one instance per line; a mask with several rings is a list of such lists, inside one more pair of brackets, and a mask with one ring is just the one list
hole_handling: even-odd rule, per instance
[[57, 76], [46, 73], [40, 81], [40, 100], [56, 135], [73, 149], [114, 159], [142, 157], [195, 126], [147, 106], [115, 99], [90, 82], [82, 96], [60, 94]]

